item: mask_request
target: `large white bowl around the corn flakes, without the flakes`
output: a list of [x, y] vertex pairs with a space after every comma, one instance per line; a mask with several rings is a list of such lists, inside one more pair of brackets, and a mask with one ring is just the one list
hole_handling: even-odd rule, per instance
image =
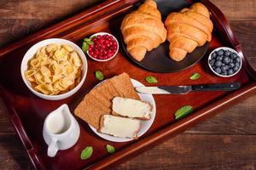
[[[65, 94], [59, 94], [59, 95], [41, 94], [32, 88], [31, 83], [26, 80], [26, 77], [24, 74], [25, 71], [27, 70], [27, 63], [28, 63], [29, 59], [32, 59], [33, 55], [37, 53], [38, 48], [42, 48], [50, 43], [56, 43], [56, 44], [60, 44], [60, 45], [61, 44], [69, 45], [79, 54], [79, 56], [83, 62], [83, 73], [82, 73], [81, 82], [79, 82], [79, 84], [75, 88], [73, 88], [72, 90], [68, 91]], [[72, 96], [73, 94], [75, 94], [77, 91], [79, 91], [79, 88], [81, 88], [84, 83], [84, 80], [85, 80], [85, 77], [87, 74], [87, 68], [88, 68], [88, 66], [87, 66], [86, 57], [84, 55], [84, 52], [82, 51], [81, 48], [79, 48], [78, 45], [76, 45], [75, 43], [70, 42], [68, 40], [65, 40], [65, 39], [51, 38], [51, 39], [46, 39], [42, 42], [38, 42], [38, 43], [34, 44], [31, 48], [28, 49], [28, 51], [26, 52], [26, 54], [24, 55], [24, 57], [21, 61], [20, 73], [21, 73], [21, 77], [22, 77], [23, 81], [26, 84], [26, 87], [28, 89], [30, 89], [30, 91], [32, 91], [33, 94], [36, 94], [38, 97], [43, 98], [43, 99], [58, 100], [58, 99], [66, 99], [66, 98]]]

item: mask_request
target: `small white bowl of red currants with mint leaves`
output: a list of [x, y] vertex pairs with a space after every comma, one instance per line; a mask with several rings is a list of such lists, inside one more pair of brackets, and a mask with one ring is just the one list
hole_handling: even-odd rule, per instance
[[96, 61], [108, 61], [119, 51], [119, 42], [108, 32], [98, 32], [84, 38], [82, 49], [91, 59]]

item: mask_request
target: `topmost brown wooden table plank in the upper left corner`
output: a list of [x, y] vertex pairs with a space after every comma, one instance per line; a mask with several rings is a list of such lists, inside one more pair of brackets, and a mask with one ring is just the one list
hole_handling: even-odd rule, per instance
[[89, 8], [102, 0], [0, 1], [2, 19], [60, 20]]

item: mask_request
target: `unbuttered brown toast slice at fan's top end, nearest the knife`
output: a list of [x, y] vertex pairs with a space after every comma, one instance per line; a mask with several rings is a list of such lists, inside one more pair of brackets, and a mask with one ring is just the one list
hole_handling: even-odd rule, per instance
[[122, 73], [109, 79], [113, 87], [119, 93], [119, 97], [140, 99], [137, 92], [132, 86], [130, 76], [127, 73]]

